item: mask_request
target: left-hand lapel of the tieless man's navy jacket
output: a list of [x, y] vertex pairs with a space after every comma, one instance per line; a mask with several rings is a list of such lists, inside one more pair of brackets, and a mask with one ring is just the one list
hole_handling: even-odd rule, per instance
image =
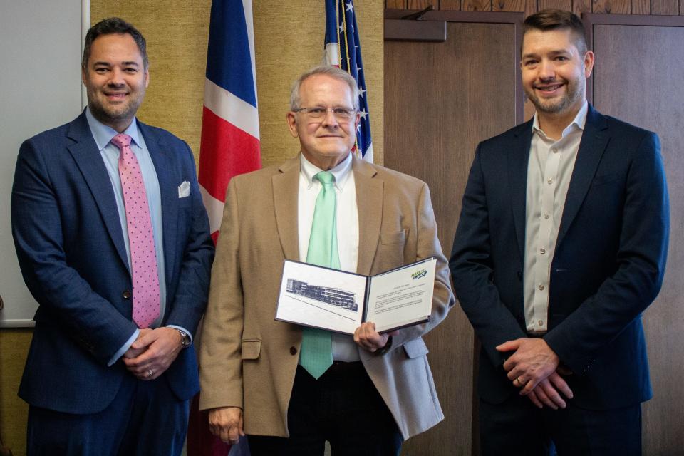
[[525, 252], [527, 165], [529, 162], [529, 146], [532, 142], [532, 122], [532, 120], [529, 120], [514, 131], [515, 139], [508, 151], [507, 163], [515, 237], [522, 257], [524, 257]]

